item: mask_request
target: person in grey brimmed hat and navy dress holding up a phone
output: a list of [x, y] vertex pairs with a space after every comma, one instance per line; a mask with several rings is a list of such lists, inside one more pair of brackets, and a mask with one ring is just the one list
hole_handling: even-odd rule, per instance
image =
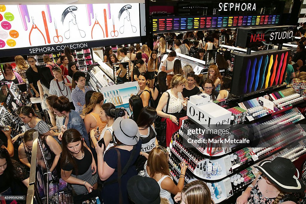
[[104, 155], [104, 145], [96, 146], [98, 173], [103, 184], [102, 197], [105, 204], [129, 204], [127, 182], [137, 175], [135, 166], [141, 150], [138, 126], [132, 119], [118, 117], [113, 124], [112, 139], [115, 144]]

